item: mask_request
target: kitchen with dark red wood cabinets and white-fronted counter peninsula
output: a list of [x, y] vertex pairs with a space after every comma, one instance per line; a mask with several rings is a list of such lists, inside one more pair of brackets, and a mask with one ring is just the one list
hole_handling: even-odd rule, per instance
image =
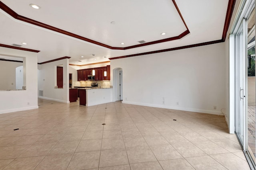
[[83, 106], [112, 102], [110, 65], [77, 70], [77, 80], [69, 74], [69, 100]]

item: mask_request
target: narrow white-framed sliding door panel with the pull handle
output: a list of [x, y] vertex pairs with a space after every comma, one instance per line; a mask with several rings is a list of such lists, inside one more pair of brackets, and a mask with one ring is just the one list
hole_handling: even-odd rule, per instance
[[235, 55], [235, 100], [236, 100], [236, 114], [235, 114], [235, 132], [238, 136], [243, 150], [246, 151], [246, 61], [247, 61], [247, 21], [243, 19], [240, 27], [235, 35], [236, 55]]

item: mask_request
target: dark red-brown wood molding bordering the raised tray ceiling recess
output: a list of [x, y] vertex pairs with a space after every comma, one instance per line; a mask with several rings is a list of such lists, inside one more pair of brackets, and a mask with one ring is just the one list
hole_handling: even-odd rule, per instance
[[93, 44], [96, 44], [96, 45], [100, 45], [102, 47], [106, 47], [108, 49], [126, 50], [126, 49], [133, 49], [133, 48], [136, 48], [136, 47], [142, 47], [142, 46], [146, 46], [146, 45], [152, 45], [152, 44], [163, 43], [163, 42], [167, 42], [167, 41], [173, 41], [173, 40], [181, 39], [182, 37], [184, 37], [184, 36], [186, 36], [190, 33], [190, 31], [189, 31], [189, 29], [186, 25], [186, 22], [184, 21], [184, 19], [182, 17], [182, 14], [180, 13], [180, 10], [178, 9], [178, 6], [177, 6], [175, 0], [172, 0], [172, 3], [176, 8], [177, 15], [180, 17], [178, 20], [180, 20], [180, 23], [183, 24], [183, 25], [180, 25], [179, 27], [180, 28], [183, 27], [184, 28], [183, 30], [185, 30], [185, 31], [182, 31], [182, 29], [181, 29], [180, 31], [182, 31], [182, 32], [179, 35], [176, 35], [174, 37], [159, 39], [159, 40], [156, 40], [156, 41], [146, 42], [146, 43], [142, 43], [142, 44], [131, 45], [131, 46], [128, 46], [128, 47], [112, 47], [110, 45], [100, 43], [98, 41], [94, 41], [92, 39], [77, 35], [75, 33], [71, 33], [69, 31], [65, 31], [63, 29], [59, 29], [57, 27], [53, 27], [51, 25], [48, 25], [48, 24], [45, 24], [45, 23], [42, 23], [42, 22], [39, 22], [39, 21], [36, 21], [36, 20], [32, 20], [30, 18], [27, 18], [27, 17], [24, 17], [24, 16], [21, 16], [21, 15], [17, 14], [16, 12], [14, 12], [14, 10], [12, 10], [8, 6], [6, 6], [1, 1], [0, 1], [0, 8], [2, 10], [4, 10], [6, 13], [8, 13], [10, 16], [12, 16], [13, 18], [17, 19], [17, 20], [24, 21], [24, 22], [27, 22], [27, 23], [31, 23], [33, 25], [37, 25], [37, 26], [40, 26], [40, 27], [43, 27], [43, 28], [46, 28], [46, 29], [50, 29], [52, 31], [56, 31], [56, 32], [62, 33], [64, 35], [68, 35], [68, 36], [71, 36], [71, 37], [75, 37], [77, 39], [81, 39], [83, 41], [87, 41], [89, 43], [93, 43]]

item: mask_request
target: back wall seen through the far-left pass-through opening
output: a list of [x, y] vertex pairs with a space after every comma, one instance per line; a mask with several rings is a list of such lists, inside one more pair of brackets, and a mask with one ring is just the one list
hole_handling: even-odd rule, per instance
[[16, 89], [16, 67], [22, 65], [23, 63], [18, 62], [0, 61], [0, 90]]

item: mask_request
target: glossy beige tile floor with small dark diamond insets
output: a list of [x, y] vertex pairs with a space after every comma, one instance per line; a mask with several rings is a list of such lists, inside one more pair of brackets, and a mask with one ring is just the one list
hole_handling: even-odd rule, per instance
[[39, 105], [0, 115], [0, 169], [250, 170], [222, 116], [121, 102]]

